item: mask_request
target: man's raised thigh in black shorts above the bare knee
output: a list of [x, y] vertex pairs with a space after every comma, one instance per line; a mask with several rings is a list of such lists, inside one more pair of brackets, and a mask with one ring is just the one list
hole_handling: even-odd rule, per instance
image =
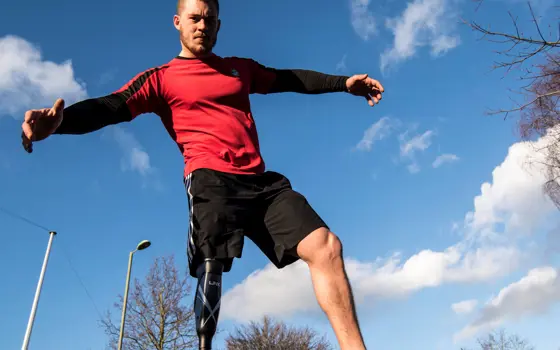
[[286, 177], [274, 172], [268, 172], [267, 177], [269, 183], [261, 201], [263, 219], [247, 237], [277, 268], [283, 268], [299, 260], [299, 242], [316, 229], [328, 226]]

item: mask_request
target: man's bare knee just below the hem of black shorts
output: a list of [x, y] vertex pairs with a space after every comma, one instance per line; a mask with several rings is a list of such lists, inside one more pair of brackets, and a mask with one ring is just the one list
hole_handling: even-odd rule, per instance
[[299, 243], [297, 253], [308, 264], [331, 264], [342, 258], [342, 242], [329, 229], [320, 228]]

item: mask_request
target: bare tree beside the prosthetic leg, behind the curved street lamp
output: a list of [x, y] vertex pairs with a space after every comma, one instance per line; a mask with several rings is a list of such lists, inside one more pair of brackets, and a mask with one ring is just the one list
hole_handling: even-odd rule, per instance
[[[134, 281], [128, 298], [123, 349], [188, 350], [198, 349], [195, 316], [188, 276], [181, 277], [173, 256], [157, 258], [145, 280]], [[123, 297], [114, 304], [120, 310]], [[101, 320], [109, 337], [109, 348], [116, 349], [120, 317], [113, 323], [111, 312]]]

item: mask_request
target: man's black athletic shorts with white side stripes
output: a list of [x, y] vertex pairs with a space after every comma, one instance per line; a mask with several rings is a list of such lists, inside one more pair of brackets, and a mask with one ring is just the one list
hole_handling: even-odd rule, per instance
[[283, 268], [297, 261], [297, 244], [325, 222], [283, 175], [197, 169], [185, 179], [189, 199], [187, 255], [196, 276], [204, 259], [221, 259], [224, 272], [241, 258], [244, 237]]

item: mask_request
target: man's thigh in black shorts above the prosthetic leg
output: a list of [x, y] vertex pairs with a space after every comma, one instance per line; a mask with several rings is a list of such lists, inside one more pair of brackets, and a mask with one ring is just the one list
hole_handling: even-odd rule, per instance
[[195, 170], [185, 179], [189, 202], [187, 256], [190, 275], [205, 259], [224, 261], [231, 270], [243, 251], [250, 215], [249, 198], [239, 195], [233, 175], [209, 169]]

